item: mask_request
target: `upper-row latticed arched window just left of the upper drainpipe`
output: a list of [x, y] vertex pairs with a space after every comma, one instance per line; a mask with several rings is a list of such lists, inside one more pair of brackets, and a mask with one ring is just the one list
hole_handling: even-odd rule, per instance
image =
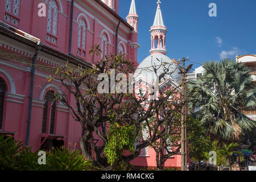
[[58, 7], [54, 0], [49, 2], [48, 18], [47, 18], [47, 36], [46, 39], [53, 43], [57, 43], [57, 20], [58, 20]]

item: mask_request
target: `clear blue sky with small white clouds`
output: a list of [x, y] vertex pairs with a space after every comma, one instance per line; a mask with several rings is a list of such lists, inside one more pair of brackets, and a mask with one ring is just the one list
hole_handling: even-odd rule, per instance
[[[156, 13], [156, 0], [135, 0], [139, 15], [138, 62], [146, 58], [151, 46], [150, 27]], [[210, 3], [217, 5], [217, 17], [210, 17]], [[125, 19], [131, 0], [119, 1], [119, 15]], [[235, 59], [240, 55], [256, 54], [255, 0], [162, 0], [161, 10], [167, 27], [167, 56], [178, 60], [204, 63]], [[194, 64], [194, 68], [200, 65]]]

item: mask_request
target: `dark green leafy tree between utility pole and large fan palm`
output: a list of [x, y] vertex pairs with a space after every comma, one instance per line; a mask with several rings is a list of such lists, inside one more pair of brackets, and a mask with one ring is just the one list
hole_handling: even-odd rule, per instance
[[206, 133], [207, 129], [200, 125], [198, 119], [191, 115], [187, 116], [188, 155], [195, 161], [207, 159], [205, 152], [208, 154], [212, 147], [212, 142]]

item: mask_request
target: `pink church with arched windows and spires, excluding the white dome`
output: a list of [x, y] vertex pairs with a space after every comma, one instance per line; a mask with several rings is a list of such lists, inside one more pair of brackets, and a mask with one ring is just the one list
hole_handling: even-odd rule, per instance
[[[53, 101], [60, 83], [47, 77], [66, 60], [91, 66], [89, 50], [96, 44], [102, 50], [97, 59], [125, 53], [136, 66], [146, 64], [148, 59], [137, 62], [135, 1], [126, 20], [118, 15], [118, 0], [3, 0], [0, 5], [0, 134], [22, 140], [33, 151], [78, 144], [80, 123]], [[165, 56], [166, 33], [158, 3], [150, 54], [172, 61]], [[155, 167], [155, 155], [149, 149], [133, 163]], [[168, 159], [166, 167], [180, 167], [180, 156]]]

